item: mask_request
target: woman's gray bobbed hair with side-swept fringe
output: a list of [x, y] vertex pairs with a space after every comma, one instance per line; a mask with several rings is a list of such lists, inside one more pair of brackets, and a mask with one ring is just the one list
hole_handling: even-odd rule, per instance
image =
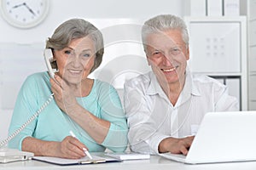
[[89, 36], [95, 42], [96, 59], [90, 72], [95, 71], [102, 63], [102, 56], [104, 54], [104, 42], [102, 32], [96, 26], [83, 19], [67, 20], [55, 29], [52, 37], [46, 41], [46, 48], [61, 50], [66, 48], [68, 44], [77, 38]]

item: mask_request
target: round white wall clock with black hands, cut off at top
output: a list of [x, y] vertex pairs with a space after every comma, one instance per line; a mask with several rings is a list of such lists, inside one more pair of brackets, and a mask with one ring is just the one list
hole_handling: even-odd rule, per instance
[[1, 0], [1, 10], [11, 26], [31, 28], [45, 19], [49, 0]]

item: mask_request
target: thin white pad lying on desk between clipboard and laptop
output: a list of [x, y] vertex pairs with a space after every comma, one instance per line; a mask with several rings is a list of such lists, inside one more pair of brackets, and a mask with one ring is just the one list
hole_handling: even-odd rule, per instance
[[149, 159], [149, 154], [139, 154], [136, 152], [113, 152], [113, 153], [107, 153], [106, 156], [111, 156], [114, 158], [117, 158], [119, 160], [140, 160], [140, 159]]

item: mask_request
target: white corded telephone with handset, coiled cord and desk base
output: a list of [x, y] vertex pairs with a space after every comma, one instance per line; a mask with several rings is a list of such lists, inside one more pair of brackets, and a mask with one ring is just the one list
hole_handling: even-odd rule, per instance
[[[58, 68], [55, 60], [53, 59], [53, 54], [50, 48], [44, 49], [44, 60], [49, 71], [49, 76], [54, 78], [54, 74], [58, 71]], [[49, 105], [49, 103], [53, 99], [53, 95], [54, 94], [51, 94], [49, 96], [49, 99], [47, 99], [44, 103], [44, 105], [42, 105], [38, 109], [38, 111], [36, 111], [36, 113], [34, 113], [24, 124], [22, 124], [20, 128], [15, 130], [14, 133], [10, 134], [7, 139], [3, 139], [0, 142], [0, 163], [7, 163], [11, 161], [25, 161], [32, 159], [32, 156], [34, 156], [34, 154], [31, 152], [9, 149], [3, 146], [8, 144], [11, 139], [14, 139], [15, 136], [18, 135], [30, 122], [38, 117], [38, 115], [44, 110], [44, 108]]]

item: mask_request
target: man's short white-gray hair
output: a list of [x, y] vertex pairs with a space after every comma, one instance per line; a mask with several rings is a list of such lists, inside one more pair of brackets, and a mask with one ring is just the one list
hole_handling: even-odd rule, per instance
[[148, 34], [175, 29], [182, 31], [183, 42], [189, 47], [189, 33], [185, 22], [181, 18], [172, 14], [160, 14], [147, 20], [142, 28], [144, 50], [146, 50]]

